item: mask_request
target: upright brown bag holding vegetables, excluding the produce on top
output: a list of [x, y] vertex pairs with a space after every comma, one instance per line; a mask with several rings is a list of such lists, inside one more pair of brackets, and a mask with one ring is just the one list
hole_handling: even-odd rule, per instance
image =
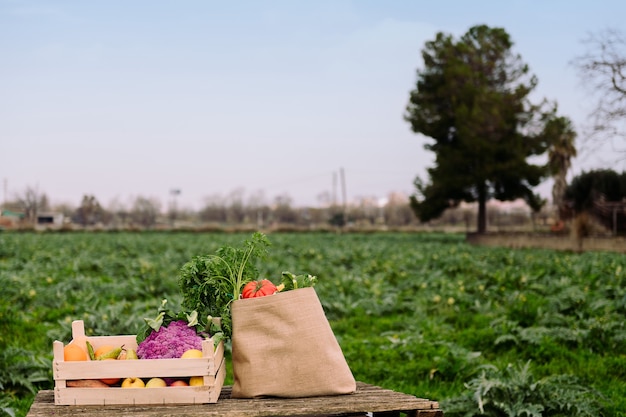
[[233, 398], [349, 394], [356, 382], [312, 287], [233, 301]]

